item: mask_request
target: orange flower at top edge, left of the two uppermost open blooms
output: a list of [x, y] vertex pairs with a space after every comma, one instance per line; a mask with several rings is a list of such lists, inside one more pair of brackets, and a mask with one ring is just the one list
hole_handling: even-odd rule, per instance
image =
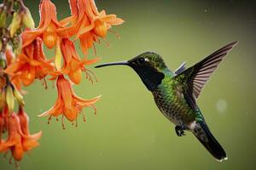
[[22, 45], [23, 48], [33, 42], [36, 37], [42, 37], [46, 47], [53, 48], [58, 37], [60, 37], [57, 29], [61, 28], [61, 25], [56, 17], [55, 4], [51, 3], [50, 0], [43, 0], [39, 5], [39, 12], [40, 22], [38, 28], [23, 32], [23, 36], [25, 37]]

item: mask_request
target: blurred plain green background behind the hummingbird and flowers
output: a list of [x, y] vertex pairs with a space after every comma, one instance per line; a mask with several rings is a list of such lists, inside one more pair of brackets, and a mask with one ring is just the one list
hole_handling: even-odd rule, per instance
[[[67, 0], [53, 0], [58, 19], [69, 15]], [[37, 1], [25, 1], [38, 24]], [[110, 47], [96, 45], [102, 62], [131, 59], [144, 51], [161, 54], [175, 70], [194, 65], [229, 42], [239, 41], [218, 67], [198, 99], [208, 126], [229, 160], [219, 163], [191, 133], [178, 138], [174, 125], [160, 113], [137, 74], [125, 66], [89, 69], [98, 82], [85, 78], [74, 86], [90, 99], [102, 94], [97, 115], [85, 109], [79, 127], [37, 115], [47, 111], [56, 91], [40, 82], [26, 88], [26, 112], [32, 133], [43, 130], [40, 147], [20, 162], [21, 169], [256, 169], [256, 2], [241, 0], [96, 0], [99, 10], [125, 20], [108, 33]], [[52, 52], [47, 52], [52, 57]], [[80, 51], [79, 51], [79, 54]], [[92, 51], [90, 51], [92, 54]], [[90, 55], [92, 57], [92, 55]], [[98, 63], [98, 64], [100, 64]], [[1, 157], [0, 169], [14, 169]]]

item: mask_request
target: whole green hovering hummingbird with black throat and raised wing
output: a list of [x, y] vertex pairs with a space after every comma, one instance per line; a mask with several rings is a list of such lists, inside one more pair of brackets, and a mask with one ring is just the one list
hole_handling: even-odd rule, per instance
[[160, 54], [154, 52], [145, 52], [130, 60], [97, 65], [96, 68], [130, 66], [153, 94], [162, 114], [174, 123], [177, 136], [185, 135], [185, 130], [192, 132], [217, 161], [223, 161], [228, 157], [207, 126], [196, 99], [213, 71], [236, 44], [231, 42], [188, 69], [183, 63], [177, 70], [171, 71]]

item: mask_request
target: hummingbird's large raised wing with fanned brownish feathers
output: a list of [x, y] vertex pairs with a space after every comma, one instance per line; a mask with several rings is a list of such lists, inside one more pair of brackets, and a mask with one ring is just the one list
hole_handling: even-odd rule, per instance
[[236, 43], [237, 42], [231, 42], [223, 48], [218, 49], [205, 59], [202, 59], [200, 62], [174, 77], [175, 80], [183, 85], [184, 98], [188, 101], [193, 110], [197, 110], [195, 99], [201, 94], [202, 88], [205, 87], [213, 71], [218, 68], [218, 64]]

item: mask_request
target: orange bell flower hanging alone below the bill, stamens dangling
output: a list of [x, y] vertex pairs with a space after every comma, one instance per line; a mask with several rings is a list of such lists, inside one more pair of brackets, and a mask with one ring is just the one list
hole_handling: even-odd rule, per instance
[[83, 110], [84, 107], [92, 107], [95, 109], [94, 104], [100, 96], [94, 99], [82, 99], [73, 92], [71, 83], [65, 79], [62, 75], [57, 78], [56, 86], [58, 88], [58, 99], [55, 102], [55, 105], [45, 111], [39, 116], [49, 116], [49, 121], [52, 116], [58, 117], [62, 114], [62, 127], [64, 127], [64, 116], [70, 122], [76, 121], [79, 113]]

